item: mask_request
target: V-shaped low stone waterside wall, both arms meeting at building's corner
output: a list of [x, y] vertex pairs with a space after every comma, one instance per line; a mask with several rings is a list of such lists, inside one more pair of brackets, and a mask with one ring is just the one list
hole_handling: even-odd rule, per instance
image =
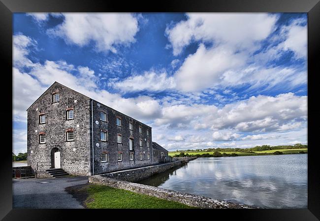
[[[195, 157], [188, 158], [187, 161]], [[250, 209], [256, 208], [249, 205], [227, 202], [224, 200], [213, 199], [205, 196], [178, 192], [170, 189], [151, 187], [143, 184], [131, 183], [146, 179], [156, 173], [161, 173], [172, 167], [178, 167], [185, 163], [184, 160], [175, 162], [147, 166], [143, 168], [130, 169], [125, 171], [112, 172], [89, 177], [89, 182], [99, 185], [105, 185], [118, 189], [126, 189], [136, 193], [155, 196], [161, 199], [180, 202], [188, 206], [194, 206], [205, 209]]]

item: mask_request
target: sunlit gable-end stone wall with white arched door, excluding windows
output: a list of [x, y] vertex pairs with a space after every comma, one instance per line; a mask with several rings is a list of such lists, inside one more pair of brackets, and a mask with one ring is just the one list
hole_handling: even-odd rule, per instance
[[[59, 102], [52, 102], [54, 93], [59, 93]], [[74, 109], [74, 120], [66, 120], [67, 108]], [[40, 113], [45, 114], [45, 124], [39, 124]], [[55, 82], [28, 108], [28, 165], [36, 169], [37, 162], [51, 162], [52, 149], [59, 148], [61, 168], [69, 174], [90, 175], [89, 118], [89, 97]], [[68, 128], [74, 130], [74, 141], [66, 141]], [[39, 144], [40, 132], [45, 133], [45, 144]], [[38, 169], [47, 168], [48, 163]]]

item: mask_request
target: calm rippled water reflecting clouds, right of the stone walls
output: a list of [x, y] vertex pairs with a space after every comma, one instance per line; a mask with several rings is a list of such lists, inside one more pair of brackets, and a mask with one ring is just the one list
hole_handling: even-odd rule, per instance
[[264, 208], [307, 208], [307, 156], [197, 158], [139, 183]]

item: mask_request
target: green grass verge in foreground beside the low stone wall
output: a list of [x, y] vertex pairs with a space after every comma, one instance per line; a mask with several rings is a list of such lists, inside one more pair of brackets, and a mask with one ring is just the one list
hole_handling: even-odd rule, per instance
[[182, 203], [143, 195], [124, 189], [92, 184], [86, 188], [85, 205], [90, 209], [183, 209], [194, 208]]

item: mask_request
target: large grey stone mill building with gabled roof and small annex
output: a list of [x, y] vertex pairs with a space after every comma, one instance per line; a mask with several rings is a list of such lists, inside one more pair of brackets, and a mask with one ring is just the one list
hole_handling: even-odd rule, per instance
[[28, 109], [28, 166], [96, 175], [168, 160], [152, 128], [55, 82]]

